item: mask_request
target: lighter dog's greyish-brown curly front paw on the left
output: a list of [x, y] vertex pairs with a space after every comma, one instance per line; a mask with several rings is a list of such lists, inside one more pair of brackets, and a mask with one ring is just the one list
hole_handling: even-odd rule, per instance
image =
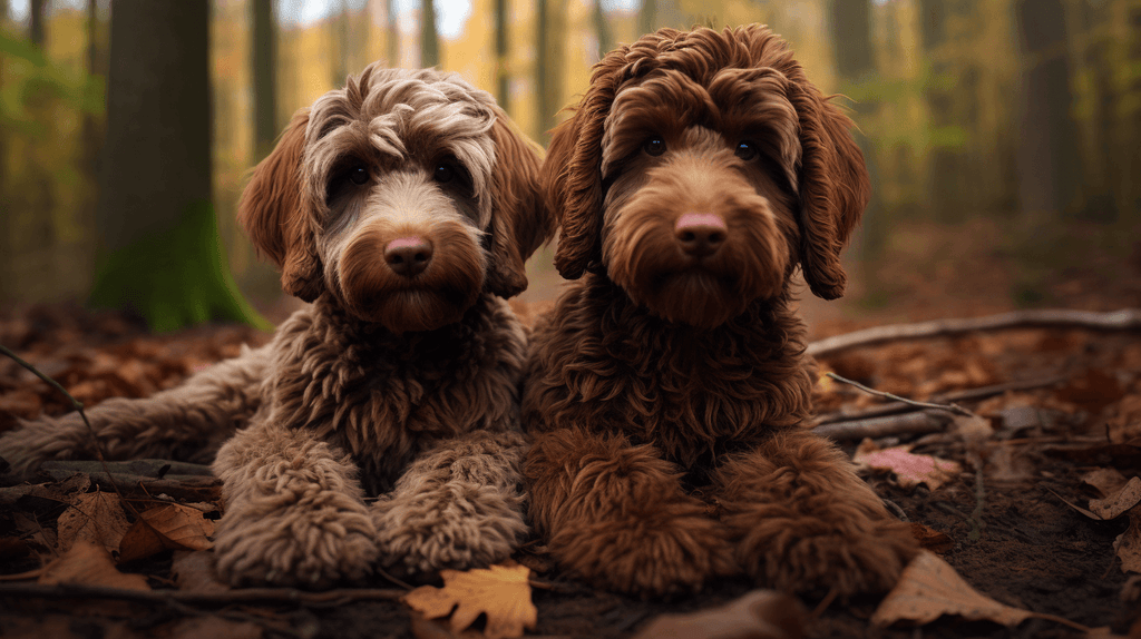
[[363, 503], [333, 491], [275, 501], [264, 497], [227, 507], [215, 544], [222, 581], [327, 588], [366, 575], [377, 543]]

